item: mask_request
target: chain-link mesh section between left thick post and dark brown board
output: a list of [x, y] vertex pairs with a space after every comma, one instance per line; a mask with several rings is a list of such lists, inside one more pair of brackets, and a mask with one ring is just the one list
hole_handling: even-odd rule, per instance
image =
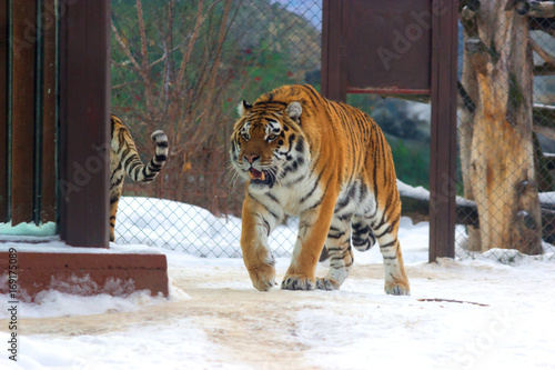
[[[117, 242], [241, 256], [244, 182], [228, 154], [235, 107], [283, 84], [320, 89], [321, 22], [321, 0], [112, 0], [112, 111], [143, 161], [152, 131], [170, 146], [154, 183], [127, 180]], [[289, 256], [295, 239], [289, 219], [270, 247]]]

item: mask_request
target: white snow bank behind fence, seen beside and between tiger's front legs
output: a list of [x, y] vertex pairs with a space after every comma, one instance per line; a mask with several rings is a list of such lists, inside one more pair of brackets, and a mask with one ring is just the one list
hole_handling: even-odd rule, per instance
[[[290, 256], [297, 220], [278, 227], [269, 243], [274, 256]], [[115, 221], [115, 242], [148, 244], [199, 257], [241, 257], [241, 219], [215, 217], [191, 204], [154, 198], [122, 197]]]

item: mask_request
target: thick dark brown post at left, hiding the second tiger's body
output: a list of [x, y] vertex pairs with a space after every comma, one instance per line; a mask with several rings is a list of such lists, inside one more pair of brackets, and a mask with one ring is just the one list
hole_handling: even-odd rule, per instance
[[108, 248], [110, 0], [65, 7], [60, 30], [60, 231]]

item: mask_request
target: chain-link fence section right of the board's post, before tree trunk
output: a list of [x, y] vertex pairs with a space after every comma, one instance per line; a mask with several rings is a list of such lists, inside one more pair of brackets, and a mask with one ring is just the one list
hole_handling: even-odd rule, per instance
[[553, 2], [462, 4], [457, 257], [555, 260]]

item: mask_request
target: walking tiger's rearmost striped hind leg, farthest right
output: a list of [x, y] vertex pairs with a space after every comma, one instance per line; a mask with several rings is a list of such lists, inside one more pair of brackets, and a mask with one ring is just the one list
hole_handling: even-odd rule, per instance
[[401, 246], [397, 239], [400, 218], [400, 214], [391, 221], [385, 221], [385, 218], [382, 218], [373, 230], [380, 243], [380, 251], [383, 257], [385, 292], [393, 296], [410, 296], [411, 288], [408, 286], [408, 278], [406, 277]]

